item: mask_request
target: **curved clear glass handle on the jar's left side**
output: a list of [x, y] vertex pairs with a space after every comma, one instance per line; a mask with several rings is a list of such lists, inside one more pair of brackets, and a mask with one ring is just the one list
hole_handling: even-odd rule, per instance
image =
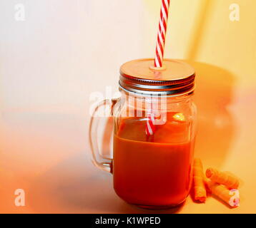
[[117, 101], [118, 99], [102, 100], [102, 102], [99, 103], [99, 105], [97, 105], [97, 107], [94, 109], [89, 125], [89, 142], [92, 151], [92, 163], [99, 169], [107, 172], [112, 172], [112, 160], [102, 157], [102, 155], [99, 152], [99, 146], [97, 142], [99, 120], [97, 120], [96, 114], [98, 113], [99, 108], [101, 108], [104, 105], [109, 105], [110, 117], [113, 116], [113, 108]]

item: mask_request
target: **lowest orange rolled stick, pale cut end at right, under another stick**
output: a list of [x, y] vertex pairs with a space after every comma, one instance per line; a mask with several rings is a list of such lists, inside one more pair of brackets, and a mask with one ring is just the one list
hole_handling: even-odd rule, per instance
[[230, 207], [238, 207], [240, 204], [240, 196], [238, 190], [229, 190], [224, 185], [219, 185], [216, 182], [206, 181], [208, 189], [223, 202], [230, 205]]

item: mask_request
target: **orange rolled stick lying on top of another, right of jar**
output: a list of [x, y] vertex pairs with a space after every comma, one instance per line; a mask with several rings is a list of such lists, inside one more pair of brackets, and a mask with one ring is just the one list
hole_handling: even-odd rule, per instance
[[217, 182], [221, 185], [225, 185], [227, 188], [230, 189], [237, 189], [239, 187], [240, 182], [237, 177], [230, 175], [227, 172], [220, 172], [215, 168], [209, 168], [205, 172], [206, 177], [208, 177], [213, 182]]

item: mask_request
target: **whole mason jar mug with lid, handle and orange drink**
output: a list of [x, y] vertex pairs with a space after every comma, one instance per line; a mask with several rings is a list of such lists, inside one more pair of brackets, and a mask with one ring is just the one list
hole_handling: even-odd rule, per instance
[[184, 202], [192, 185], [195, 71], [172, 59], [160, 70], [153, 65], [153, 59], [124, 63], [120, 98], [100, 104], [109, 105], [114, 116], [112, 159], [98, 151], [94, 116], [90, 142], [94, 164], [113, 173], [119, 197], [138, 207], [167, 209]]

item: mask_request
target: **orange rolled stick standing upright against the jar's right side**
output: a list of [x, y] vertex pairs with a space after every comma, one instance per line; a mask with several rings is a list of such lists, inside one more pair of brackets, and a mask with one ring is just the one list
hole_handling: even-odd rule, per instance
[[199, 158], [194, 160], [194, 190], [195, 190], [195, 200], [199, 202], [205, 202], [207, 198], [207, 192], [205, 189], [205, 177], [202, 168], [202, 162]]

